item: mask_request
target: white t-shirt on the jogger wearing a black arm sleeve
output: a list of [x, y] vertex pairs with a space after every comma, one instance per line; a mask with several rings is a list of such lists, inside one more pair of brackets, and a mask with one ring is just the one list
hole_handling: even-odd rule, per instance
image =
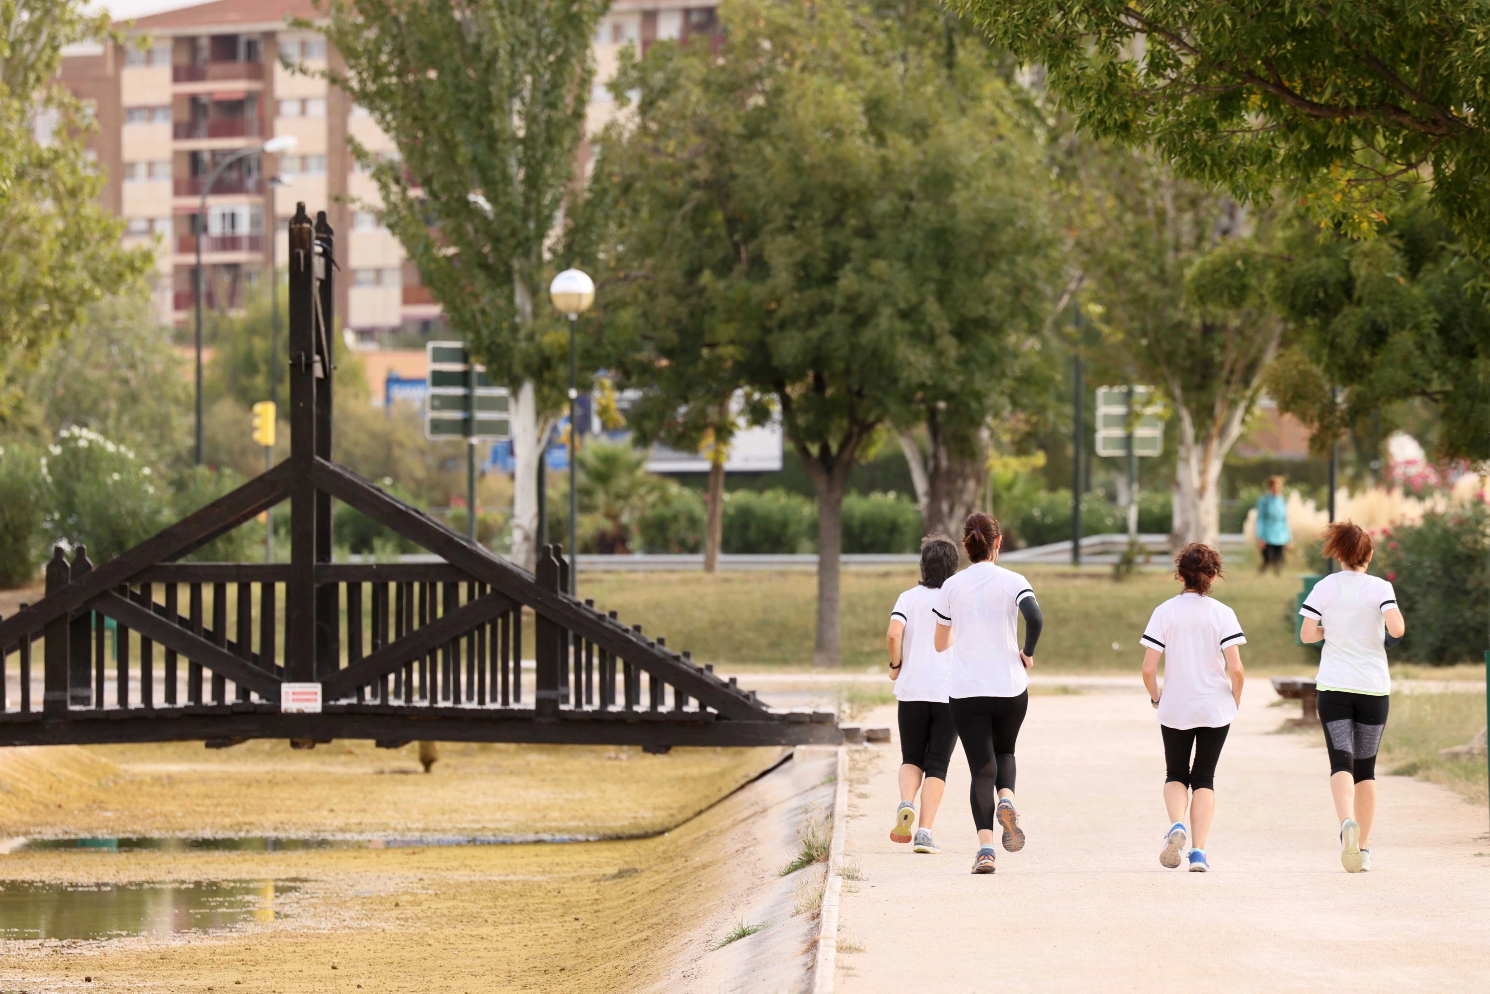
[[1019, 602], [1030, 581], [991, 562], [973, 563], [942, 584], [936, 618], [952, 626], [948, 697], [1018, 697], [1030, 687], [1019, 660]]

